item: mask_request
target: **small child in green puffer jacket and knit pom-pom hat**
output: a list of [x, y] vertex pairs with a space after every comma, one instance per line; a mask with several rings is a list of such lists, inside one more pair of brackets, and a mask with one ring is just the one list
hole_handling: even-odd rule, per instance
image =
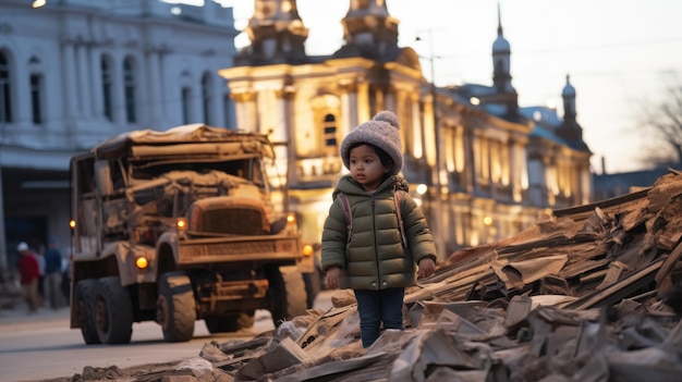
[[[345, 136], [341, 159], [351, 174], [333, 190], [322, 232], [327, 286], [344, 285], [355, 293], [363, 347], [379, 337], [381, 324], [403, 329], [403, 297], [405, 287], [414, 284], [414, 264], [421, 278], [430, 276], [436, 267], [426, 219], [398, 175], [403, 165], [399, 128], [395, 114], [381, 111]], [[340, 193], [345, 194], [352, 223], [346, 222]], [[401, 198], [394, 200], [395, 193], [402, 193]], [[402, 200], [400, 211], [397, 200]]]

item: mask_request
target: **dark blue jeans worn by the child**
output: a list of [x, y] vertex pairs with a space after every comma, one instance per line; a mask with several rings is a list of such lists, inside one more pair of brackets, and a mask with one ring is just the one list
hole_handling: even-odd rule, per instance
[[369, 347], [383, 329], [403, 330], [404, 287], [381, 291], [354, 289], [360, 313], [360, 335], [363, 347]]

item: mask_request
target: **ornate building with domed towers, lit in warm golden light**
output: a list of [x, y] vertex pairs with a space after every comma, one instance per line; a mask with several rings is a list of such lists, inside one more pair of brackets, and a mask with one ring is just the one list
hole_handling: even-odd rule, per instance
[[341, 23], [344, 45], [309, 57], [296, 2], [256, 0], [251, 46], [220, 71], [238, 126], [282, 143], [290, 208], [307, 242], [319, 242], [343, 136], [383, 109], [400, 116], [403, 173], [441, 257], [516, 233], [548, 209], [589, 201], [590, 151], [575, 120], [575, 90], [567, 78], [563, 119], [520, 108], [501, 22], [492, 86], [442, 88], [424, 78], [413, 49], [398, 47], [399, 21], [383, 0], [352, 0]]

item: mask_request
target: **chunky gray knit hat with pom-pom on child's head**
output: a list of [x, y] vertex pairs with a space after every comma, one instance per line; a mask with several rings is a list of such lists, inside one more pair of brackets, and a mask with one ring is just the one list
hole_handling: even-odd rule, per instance
[[351, 169], [350, 148], [357, 143], [372, 144], [388, 153], [395, 163], [391, 175], [397, 175], [403, 168], [402, 145], [400, 143], [400, 122], [390, 111], [380, 111], [372, 121], [353, 128], [341, 141], [341, 160], [346, 169]]

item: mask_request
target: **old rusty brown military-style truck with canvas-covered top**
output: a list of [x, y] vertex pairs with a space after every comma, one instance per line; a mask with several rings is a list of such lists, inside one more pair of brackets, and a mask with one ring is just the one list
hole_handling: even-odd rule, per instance
[[218, 333], [251, 326], [257, 309], [276, 325], [305, 313], [313, 250], [275, 153], [267, 135], [191, 124], [74, 156], [71, 329], [122, 344], [154, 320], [166, 342], [185, 342], [197, 320]]

